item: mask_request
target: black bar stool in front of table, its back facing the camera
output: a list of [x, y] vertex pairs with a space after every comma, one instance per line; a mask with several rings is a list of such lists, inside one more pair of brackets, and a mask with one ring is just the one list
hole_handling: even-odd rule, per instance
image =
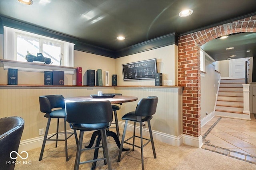
[[[67, 122], [72, 123], [72, 129], [80, 130], [74, 170], [78, 170], [80, 164], [96, 162], [99, 160], [107, 160], [108, 169], [111, 170], [111, 162], [108, 153], [108, 143], [106, 135], [106, 129], [110, 126], [111, 122], [113, 121], [112, 106], [110, 101], [106, 100], [97, 102], [72, 102], [67, 100], [65, 102], [65, 106]], [[95, 130], [100, 130], [102, 146], [82, 149], [84, 131]], [[99, 148], [103, 149], [104, 158], [80, 162], [80, 156], [82, 151], [90, 149], [98, 150]]]

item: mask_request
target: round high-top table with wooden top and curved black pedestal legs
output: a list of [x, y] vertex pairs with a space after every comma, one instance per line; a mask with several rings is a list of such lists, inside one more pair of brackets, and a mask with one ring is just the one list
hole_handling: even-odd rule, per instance
[[[104, 98], [104, 96], [102, 96], [102, 98], [92, 98], [91, 96], [79, 96], [79, 97], [72, 97], [72, 98], [65, 98], [64, 99], [65, 101], [104, 101], [104, 100], [109, 100], [111, 102], [111, 104], [120, 104], [120, 103], [126, 103], [126, 102], [133, 102], [133, 101], [136, 101], [138, 100], [137, 97], [135, 96], [120, 96], [120, 95], [116, 95], [114, 96], [114, 98]], [[94, 133], [92, 133], [92, 137], [91, 137], [91, 140], [90, 140], [90, 143], [88, 146], [85, 146], [86, 148], [90, 148], [92, 147], [96, 137], [98, 136], [97, 140], [96, 140], [96, 147], [98, 147], [100, 145], [100, 141], [101, 141], [101, 136], [100, 136], [100, 131], [94, 131]], [[116, 142], [116, 145], [118, 146], [118, 148], [120, 148], [120, 141], [119, 141], [119, 138], [118, 138], [118, 135], [113, 132], [113, 131], [107, 131], [107, 136], [111, 136], [113, 137], [113, 139], [115, 140]], [[123, 148], [123, 151], [126, 151], [126, 150], [129, 150], [129, 149], [124, 149]], [[98, 157], [98, 149], [95, 149], [94, 151], [94, 159], [97, 159]], [[105, 164], [106, 164], [106, 161], [105, 161]], [[96, 166], [96, 162], [93, 162], [92, 163], [92, 170], [95, 169], [95, 166]]]

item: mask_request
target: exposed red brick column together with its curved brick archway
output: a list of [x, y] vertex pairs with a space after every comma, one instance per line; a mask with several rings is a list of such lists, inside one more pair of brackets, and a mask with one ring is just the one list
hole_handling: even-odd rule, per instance
[[178, 37], [178, 85], [184, 86], [183, 134], [201, 135], [200, 46], [222, 35], [256, 32], [256, 16]]

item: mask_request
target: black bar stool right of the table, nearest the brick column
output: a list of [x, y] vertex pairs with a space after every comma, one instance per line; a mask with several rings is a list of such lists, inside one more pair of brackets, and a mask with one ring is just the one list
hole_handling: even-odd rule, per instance
[[[138, 105], [137, 105], [135, 111], [131, 111], [129, 113], [126, 113], [122, 117], [122, 119], [125, 120], [125, 124], [124, 124], [124, 133], [123, 133], [123, 136], [122, 136], [122, 142], [121, 142], [117, 162], [120, 162], [120, 158], [121, 158], [124, 143], [126, 143], [128, 145], [132, 145], [132, 150], [134, 150], [134, 147], [138, 147], [138, 148], [141, 149], [142, 170], [144, 170], [143, 147], [145, 147], [150, 142], [151, 142], [151, 145], [152, 145], [154, 158], [156, 158], [156, 151], [155, 151], [155, 146], [154, 146], [154, 141], [153, 141], [153, 135], [152, 135], [151, 125], [150, 125], [150, 120], [152, 119], [152, 115], [154, 115], [156, 113], [157, 103], [158, 103], [158, 97], [156, 97], [156, 96], [149, 96], [148, 98], [143, 98], [138, 102]], [[134, 121], [133, 136], [124, 141], [128, 121]], [[148, 122], [148, 131], [149, 131], [149, 134], [150, 134], [150, 139], [146, 139], [146, 138], [142, 137], [142, 122], [144, 122], [144, 121]], [[140, 123], [140, 136], [135, 135], [136, 122]], [[140, 146], [134, 145], [135, 137], [140, 138]], [[132, 138], [133, 138], [133, 143], [128, 143], [127, 141], [132, 139]], [[148, 140], [148, 142], [145, 143], [144, 145], [143, 145], [143, 139]]]

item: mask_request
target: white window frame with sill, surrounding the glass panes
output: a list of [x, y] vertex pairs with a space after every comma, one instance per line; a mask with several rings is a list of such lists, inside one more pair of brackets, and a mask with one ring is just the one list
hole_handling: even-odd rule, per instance
[[[38, 63], [29, 63], [29, 62], [22, 62], [16, 60], [17, 55], [17, 33], [25, 34], [28, 36], [46, 39], [50, 41], [62, 42], [62, 66], [57, 65], [48, 65], [48, 64], [38, 64]], [[65, 74], [74, 74], [74, 43], [54, 39], [51, 37], [46, 37], [42, 35], [38, 35], [35, 33], [30, 33], [28, 31], [22, 31], [19, 29], [11, 28], [4, 26], [4, 69], [10, 68], [18, 68], [21, 71], [31, 71], [31, 72], [44, 72], [44, 71], [51, 71], [51, 70], [63, 70]], [[10, 62], [8, 62], [10, 61]], [[32, 65], [31, 65], [32, 64]], [[39, 69], [37, 67], [40, 66]], [[70, 71], [72, 68], [72, 71]]]

